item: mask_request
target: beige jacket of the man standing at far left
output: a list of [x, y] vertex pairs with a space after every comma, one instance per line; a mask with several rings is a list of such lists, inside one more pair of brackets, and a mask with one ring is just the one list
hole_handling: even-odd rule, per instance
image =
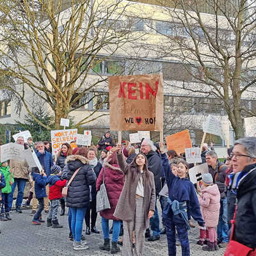
[[14, 179], [29, 179], [29, 166], [26, 161], [20, 159], [10, 159], [10, 169]]

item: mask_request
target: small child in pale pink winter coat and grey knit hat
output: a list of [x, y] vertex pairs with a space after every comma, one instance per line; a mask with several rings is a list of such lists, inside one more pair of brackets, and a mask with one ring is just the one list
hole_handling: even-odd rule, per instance
[[211, 173], [205, 173], [202, 176], [199, 186], [202, 192], [199, 204], [206, 229], [200, 229], [200, 241], [198, 241], [198, 244], [203, 245], [206, 239], [208, 244], [203, 247], [203, 250], [214, 252], [218, 250], [216, 227], [220, 216], [220, 191], [218, 185], [213, 184]]

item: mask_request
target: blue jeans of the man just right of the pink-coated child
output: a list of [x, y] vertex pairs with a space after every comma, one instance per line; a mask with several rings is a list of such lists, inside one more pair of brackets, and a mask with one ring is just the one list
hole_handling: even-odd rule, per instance
[[228, 243], [228, 204], [227, 197], [220, 200], [220, 217], [217, 227], [218, 240]]

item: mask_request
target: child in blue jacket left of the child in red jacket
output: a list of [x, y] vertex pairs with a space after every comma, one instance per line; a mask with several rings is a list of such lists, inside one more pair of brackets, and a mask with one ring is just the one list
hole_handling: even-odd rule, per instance
[[44, 170], [41, 170], [41, 173], [40, 173], [37, 167], [32, 168], [31, 176], [35, 181], [35, 195], [39, 203], [39, 207], [34, 215], [32, 223], [33, 225], [41, 225], [42, 222], [45, 222], [44, 220], [42, 220], [41, 214], [42, 214], [42, 211], [44, 210], [44, 197], [46, 197], [45, 186], [47, 183], [47, 178]]

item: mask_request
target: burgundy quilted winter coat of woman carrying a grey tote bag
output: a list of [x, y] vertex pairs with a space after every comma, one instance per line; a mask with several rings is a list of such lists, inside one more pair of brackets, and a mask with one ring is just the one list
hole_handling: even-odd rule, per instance
[[100, 216], [108, 220], [118, 220], [113, 216], [118, 198], [124, 186], [124, 173], [120, 170], [118, 164], [109, 164], [109, 160], [104, 161], [104, 167], [101, 169], [96, 183], [96, 191], [99, 191], [103, 182], [103, 172], [105, 175], [104, 183], [108, 193], [110, 209], [100, 211]]

